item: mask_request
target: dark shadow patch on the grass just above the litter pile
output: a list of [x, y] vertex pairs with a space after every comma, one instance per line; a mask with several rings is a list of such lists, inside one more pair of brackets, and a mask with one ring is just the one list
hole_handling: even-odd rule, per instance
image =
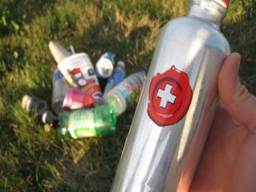
[[[125, 61], [127, 74], [139, 70], [147, 71], [154, 50], [143, 52], [147, 47], [147, 42], [143, 41], [143, 38], [150, 34], [150, 27], [137, 27], [128, 37], [124, 36], [124, 30], [120, 24], [106, 19], [90, 26], [82, 36], [74, 38], [73, 42], [78, 45], [78, 49], [91, 56], [93, 63], [96, 63], [104, 52], [113, 51], [116, 60]], [[84, 44], [81, 44], [81, 41]], [[138, 52], [143, 52], [143, 55], [138, 56]]]

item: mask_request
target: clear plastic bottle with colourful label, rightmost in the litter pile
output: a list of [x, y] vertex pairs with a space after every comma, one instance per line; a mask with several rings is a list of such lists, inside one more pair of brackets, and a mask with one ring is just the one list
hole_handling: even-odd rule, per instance
[[113, 106], [116, 115], [124, 113], [126, 108], [137, 102], [145, 79], [144, 71], [132, 73], [108, 92], [107, 102]]

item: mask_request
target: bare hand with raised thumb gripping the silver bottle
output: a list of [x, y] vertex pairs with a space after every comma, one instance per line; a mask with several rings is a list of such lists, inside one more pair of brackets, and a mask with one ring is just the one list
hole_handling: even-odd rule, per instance
[[218, 75], [218, 106], [189, 192], [256, 191], [256, 97], [241, 84], [241, 56], [229, 55]]

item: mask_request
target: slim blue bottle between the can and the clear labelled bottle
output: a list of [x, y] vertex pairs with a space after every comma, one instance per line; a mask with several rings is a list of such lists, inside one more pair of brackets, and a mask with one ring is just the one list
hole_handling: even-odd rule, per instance
[[107, 94], [109, 90], [113, 89], [113, 87], [119, 83], [121, 83], [125, 79], [125, 62], [118, 61], [115, 69], [113, 70], [112, 75], [108, 78], [108, 82], [105, 86], [103, 92], [103, 101], [107, 102]]

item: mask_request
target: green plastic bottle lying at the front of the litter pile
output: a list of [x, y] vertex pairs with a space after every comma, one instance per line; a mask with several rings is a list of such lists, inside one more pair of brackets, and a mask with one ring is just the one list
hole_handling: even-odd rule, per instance
[[58, 132], [62, 138], [104, 137], [115, 131], [116, 115], [109, 105], [63, 112], [58, 119]]

